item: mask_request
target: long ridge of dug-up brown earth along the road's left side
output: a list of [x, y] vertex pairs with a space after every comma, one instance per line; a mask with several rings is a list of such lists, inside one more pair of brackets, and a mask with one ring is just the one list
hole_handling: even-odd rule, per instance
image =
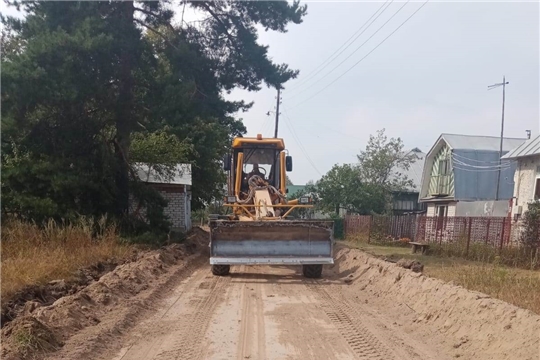
[[[2, 359], [33, 357], [57, 350], [84, 329], [100, 327], [120, 331], [160, 290], [190, 268], [208, 251], [208, 233], [195, 228], [183, 244], [141, 252], [133, 261], [119, 265], [73, 294], [51, 305], [27, 301], [21, 314], [2, 329]], [[57, 281], [62, 287], [62, 281]], [[69, 287], [72, 292], [72, 287]], [[90, 335], [91, 337], [91, 335]], [[99, 340], [99, 339], [94, 339]]]

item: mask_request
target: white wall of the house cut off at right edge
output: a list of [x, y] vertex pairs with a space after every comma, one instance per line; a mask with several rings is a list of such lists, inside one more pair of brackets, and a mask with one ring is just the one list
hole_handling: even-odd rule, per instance
[[522, 158], [519, 160], [514, 175], [514, 206], [512, 216], [517, 213], [518, 206], [523, 207], [522, 213], [527, 211], [527, 203], [534, 200], [534, 186], [536, 178], [540, 176], [537, 168], [540, 166], [540, 156]]

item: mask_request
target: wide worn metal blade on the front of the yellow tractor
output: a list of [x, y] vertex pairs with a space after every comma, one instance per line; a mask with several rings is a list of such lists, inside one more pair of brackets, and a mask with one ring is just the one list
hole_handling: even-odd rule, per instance
[[210, 222], [212, 265], [333, 264], [332, 221]]

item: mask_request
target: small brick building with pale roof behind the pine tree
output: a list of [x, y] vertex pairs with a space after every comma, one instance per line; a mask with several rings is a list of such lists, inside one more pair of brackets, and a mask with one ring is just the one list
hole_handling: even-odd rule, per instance
[[191, 165], [178, 164], [173, 176], [167, 178], [147, 164], [139, 163], [135, 168], [139, 179], [158, 190], [168, 201], [165, 215], [172, 223], [171, 230], [185, 232], [191, 229]]

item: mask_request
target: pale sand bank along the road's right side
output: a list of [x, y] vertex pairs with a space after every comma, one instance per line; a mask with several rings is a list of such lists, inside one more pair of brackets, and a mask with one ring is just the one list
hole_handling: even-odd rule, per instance
[[[348, 292], [368, 293], [398, 309], [413, 310], [412, 328], [430, 327], [475, 359], [540, 358], [540, 316], [488, 295], [423, 276], [356, 249], [337, 250], [334, 278]], [[540, 289], [539, 289], [540, 291]], [[395, 313], [400, 317], [399, 311]]]

